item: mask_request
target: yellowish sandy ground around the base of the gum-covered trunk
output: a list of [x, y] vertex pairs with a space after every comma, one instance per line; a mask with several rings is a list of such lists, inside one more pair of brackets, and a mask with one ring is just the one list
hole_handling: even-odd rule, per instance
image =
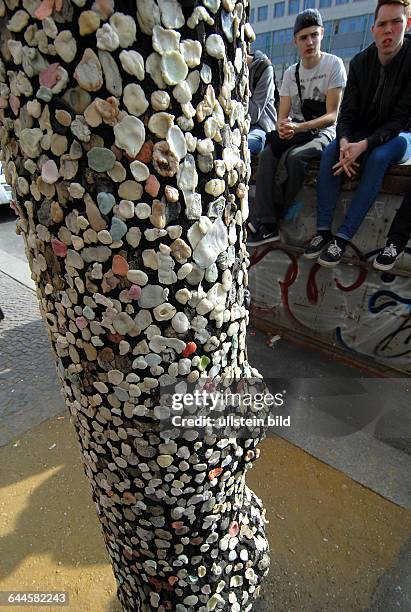
[[[65, 610], [120, 612], [69, 416], [0, 448], [0, 465], [0, 590], [65, 590]], [[270, 521], [255, 610], [367, 610], [410, 537], [410, 513], [281, 438], [262, 443], [248, 483]]]

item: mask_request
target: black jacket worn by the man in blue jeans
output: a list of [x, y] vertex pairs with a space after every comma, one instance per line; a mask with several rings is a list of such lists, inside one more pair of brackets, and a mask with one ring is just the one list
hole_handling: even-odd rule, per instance
[[[376, 106], [375, 92], [382, 73], [382, 92]], [[406, 34], [401, 50], [384, 67], [374, 43], [353, 57], [341, 103], [337, 137], [351, 140], [355, 134], [365, 132], [369, 134], [368, 148], [373, 149], [410, 127], [411, 35]]]

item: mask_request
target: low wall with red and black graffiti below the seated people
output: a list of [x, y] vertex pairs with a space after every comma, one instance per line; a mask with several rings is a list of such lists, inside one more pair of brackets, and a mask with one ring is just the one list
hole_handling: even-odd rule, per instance
[[[375, 253], [356, 252], [363, 261]], [[250, 289], [274, 324], [411, 373], [411, 278], [358, 265], [327, 269], [267, 246], [252, 253]]]

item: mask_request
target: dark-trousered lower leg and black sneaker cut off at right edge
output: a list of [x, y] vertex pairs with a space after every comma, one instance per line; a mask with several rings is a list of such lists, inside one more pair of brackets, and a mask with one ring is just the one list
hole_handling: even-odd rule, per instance
[[406, 193], [401, 206], [388, 231], [387, 242], [374, 259], [376, 270], [391, 270], [398, 257], [405, 251], [407, 242], [411, 237], [411, 188]]

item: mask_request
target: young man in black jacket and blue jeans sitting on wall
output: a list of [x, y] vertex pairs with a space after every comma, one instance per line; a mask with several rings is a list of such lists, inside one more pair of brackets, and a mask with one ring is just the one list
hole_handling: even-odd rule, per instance
[[[317, 180], [317, 234], [305, 250], [322, 266], [341, 260], [391, 164], [411, 156], [411, 39], [409, 0], [379, 0], [371, 31], [374, 43], [350, 62], [337, 139], [324, 150]], [[335, 237], [331, 223], [343, 174], [361, 180]]]

